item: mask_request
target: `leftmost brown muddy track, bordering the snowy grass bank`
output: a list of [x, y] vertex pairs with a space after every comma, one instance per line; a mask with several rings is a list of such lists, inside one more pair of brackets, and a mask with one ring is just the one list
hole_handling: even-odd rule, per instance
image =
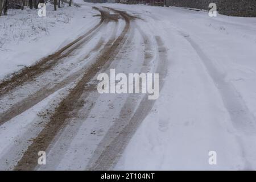
[[67, 46], [61, 48], [59, 51], [53, 53], [52, 55], [44, 57], [31, 67], [24, 68], [22, 69], [22, 71], [19, 71], [18, 73], [15, 73], [13, 76], [11, 76], [11, 78], [2, 81], [0, 83], [0, 96], [8, 93], [10, 90], [13, 90], [17, 86], [23, 85], [24, 82], [33, 80], [36, 76], [54, 67], [61, 59], [67, 56], [71, 56], [71, 53], [74, 52], [85, 42], [88, 42], [88, 40], [90, 40], [90, 38], [92, 37], [92, 34], [102, 25], [102, 23], [108, 22], [109, 18], [116, 21], [115, 18], [108, 16], [108, 14], [106, 13], [102, 13], [101, 11], [100, 13], [100, 22], [97, 23], [96, 26], [94, 26], [84, 35], [67, 44]]

